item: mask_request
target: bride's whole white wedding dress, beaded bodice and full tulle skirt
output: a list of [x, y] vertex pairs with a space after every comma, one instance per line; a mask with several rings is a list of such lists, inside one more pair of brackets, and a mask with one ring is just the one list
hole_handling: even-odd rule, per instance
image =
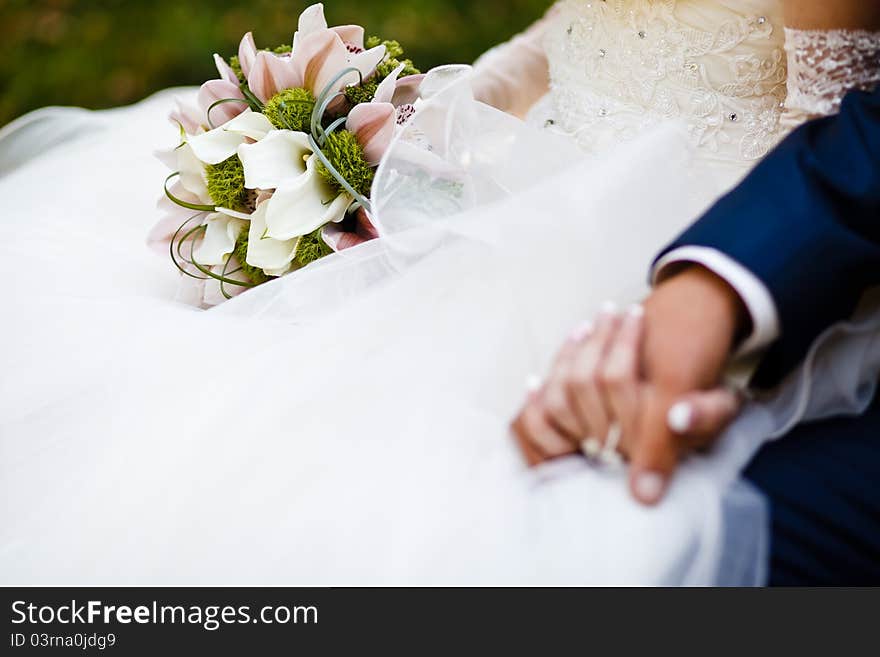
[[580, 458], [528, 470], [507, 427], [567, 331], [638, 298], [782, 136], [780, 7], [565, 2], [487, 56], [481, 93], [531, 104], [504, 81], [539, 40], [529, 126], [439, 71], [378, 177], [387, 238], [209, 311], [142, 246], [179, 92], [0, 134], [0, 582], [763, 580], [738, 472], [787, 424], [858, 410], [870, 341], [835, 355], [832, 334], [655, 509]]

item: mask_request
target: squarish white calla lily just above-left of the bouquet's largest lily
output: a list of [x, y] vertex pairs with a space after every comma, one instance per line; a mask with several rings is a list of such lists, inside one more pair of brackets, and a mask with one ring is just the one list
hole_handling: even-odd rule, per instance
[[291, 130], [274, 130], [260, 141], [238, 147], [248, 189], [280, 187], [285, 180], [304, 174], [311, 156], [309, 136]]

